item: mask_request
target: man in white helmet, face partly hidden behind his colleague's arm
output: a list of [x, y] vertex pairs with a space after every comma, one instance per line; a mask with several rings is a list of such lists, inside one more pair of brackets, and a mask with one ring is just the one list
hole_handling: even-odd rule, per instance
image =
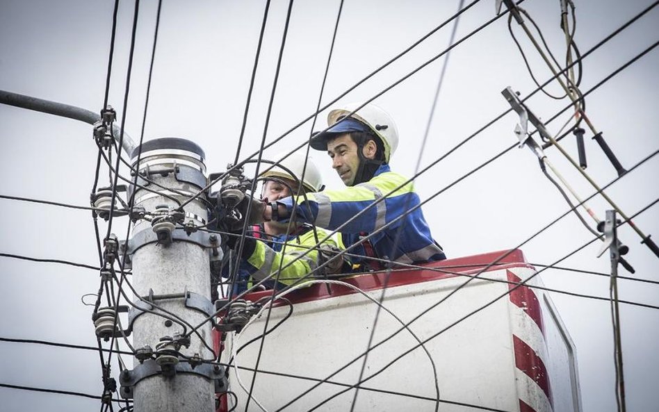
[[[276, 158], [283, 157], [284, 155]], [[307, 167], [303, 175], [305, 160]], [[279, 165], [270, 170], [266, 169], [259, 179], [263, 180], [261, 197], [262, 202], [266, 204], [293, 195], [304, 197], [306, 192], [320, 192], [324, 188], [318, 167], [302, 153], [293, 153], [279, 162]], [[301, 188], [298, 184], [300, 180], [302, 180]], [[252, 226], [243, 240], [234, 295], [266, 278], [268, 280], [262, 283], [264, 288], [280, 289], [314, 272], [320, 263], [338, 254], [341, 249], [339, 236], [327, 238], [328, 234], [323, 229], [314, 228], [307, 223], [298, 223], [295, 220], [290, 224], [269, 221]], [[233, 236], [233, 240], [229, 240], [231, 248], [235, 247], [236, 238]], [[316, 244], [318, 240], [324, 238], [327, 240], [320, 246], [323, 252], [319, 253]], [[309, 249], [311, 251], [302, 256]], [[332, 259], [323, 268], [323, 273], [338, 272], [341, 265], [343, 265], [341, 257]], [[277, 275], [279, 267], [282, 267], [282, 270]], [[225, 267], [225, 274], [228, 274], [228, 270], [229, 268]]]

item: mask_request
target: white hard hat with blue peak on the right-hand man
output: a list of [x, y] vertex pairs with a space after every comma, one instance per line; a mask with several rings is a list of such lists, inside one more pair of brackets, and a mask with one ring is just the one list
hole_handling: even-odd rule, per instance
[[[339, 120], [342, 120], [343, 117], [350, 115], [355, 111], [361, 103], [350, 103], [346, 104], [341, 108], [335, 108], [330, 111], [330, 114], [327, 115], [327, 126], [333, 126]], [[398, 128], [396, 128], [396, 122], [393, 122], [389, 113], [385, 112], [379, 106], [369, 103], [364, 107], [359, 108], [356, 113], [350, 115], [353, 119], [359, 120], [359, 122], [366, 124], [373, 133], [375, 133], [384, 145], [384, 161], [389, 163], [389, 158], [391, 154], [396, 151], [398, 147]], [[341, 122], [336, 124], [334, 127], [330, 127], [327, 131], [315, 135], [314, 138], [311, 138], [311, 147], [318, 150], [327, 150], [327, 139], [330, 138], [330, 135], [336, 135], [338, 133], [349, 133], [350, 131], [359, 131], [354, 130], [350, 122]]]

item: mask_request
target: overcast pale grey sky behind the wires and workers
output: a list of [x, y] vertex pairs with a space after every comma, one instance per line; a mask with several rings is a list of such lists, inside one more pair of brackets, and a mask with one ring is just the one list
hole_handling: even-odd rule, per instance
[[[0, 1], [0, 89], [29, 94], [98, 111], [103, 104], [113, 1]], [[133, 138], [140, 135], [146, 79], [153, 41], [156, 1], [143, 1], [137, 30], [128, 110], [121, 113], [125, 91], [133, 2], [122, 1], [117, 24], [110, 104]], [[161, 32], [154, 64], [145, 139], [178, 136], [197, 142], [207, 155], [210, 172], [233, 161], [254, 51], [259, 36], [262, 1], [163, 1]], [[575, 0], [576, 42], [582, 53], [646, 8], [651, 1]], [[279, 51], [286, 1], [272, 1], [263, 56], [254, 85], [243, 157], [259, 148]], [[339, 1], [298, 0], [293, 6], [268, 141], [313, 113], [332, 38]], [[327, 102], [379, 67], [399, 51], [455, 13], [457, 1], [347, 0], [325, 87]], [[535, 17], [556, 56], [564, 53], [558, 0], [527, 0], [523, 7]], [[457, 38], [494, 17], [494, 1], [482, 0], [459, 21]], [[524, 49], [538, 79], [550, 73], [530, 43]], [[350, 92], [341, 102], [373, 97], [446, 47], [450, 25], [384, 71]], [[659, 11], [652, 10], [584, 61], [582, 90], [589, 90], [659, 38]], [[430, 117], [441, 62], [428, 65], [375, 100], [398, 123], [400, 145], [391, 161], [394, 170], [412, 175], [421, 138]], [[656, 151], [658, 110], [656, 50], [615, 76], [587, 98], [587, 113], [626, 167]], [[523, 60], [507, 31], [505, 19], [454, 49], [433, 113], [428, 144], [421, 154], [425, 166], [471, 135], [509, 106], [501, 96], [506, 86], [526, 96], [535, 90]], [[555, 93], [555, 85], [549, 87]], [[529, 99], [537, 115], [548, 119], [567, 105], [542, 93]], [[320, 129], [325, 115], [318, 118]], [[558, 132], [564, 114], [548, 129]], [[515, 141], [514, 114], [503, 117], [467, 145], [448, 156], [416, 181], [422, 199], [434, 195], [459, 176]], [[277, 143], [275, 154], [303, 142], [308, 122]], [[63, 118], [0, 106], [0, 194], [34, 197], [69, 204], [88, 204], [97, 149], [92, 127]], [[615, 179], [615, 170], [587, 133], [587, 172], [601, 185]], [[564, 146], [572, 156], [571, 139]], [[555, 149], [549, 158], [569, 182], [587, 197], [591, 186]], [[325, 154], [314, 154], [327, 186], [342, 183]], [[607, 190], [629, 215], [659, 195], [659, 161], [650, 160]], [[655, 177], [652, 177], [655, 176]], [[101, 179], [107, 179], [106, 172]], [[103, 180], [101, 180], [103, 181]], [[589, 202], [600, 216], [610, 208], [603, 199]], [[465, 179], [425, 207], [432, 233], [450, 257], [507, 249], [567, 210], [560, 194], [546, 181], [528, 149], [516, 149]], [[0, 252], [38, 258], [97, 263], [95, 235], [88, 213], [54, 206], [0, 199]], [[635, 219], [645, 233], [659, 237], [659, 208]], [[117, 220], [115, 233], [125, 236], [127, 222]], [[101, 224], [101, 231], [103, 231]], [[658, 259], [628, 226], [619, 236], [630, 247], [633, 277], [659, 281]], [[549, 264], [583, 245], [591, 234], [570, 215], [522, 249], [528, 261]], [[599, 244], [583, 249], [564, 266], [608, 273], [607, 255], [596, 258]], [[90, 270], [31, 263], [0, 257], [0, 336], [95, 345], [91, 308], [80, 297], [95, 292], [97, 273]], [[626, 274], [623, 269], [621, 274]], [[608, 296], [608, 279], [552, 270], [546, 286], [587, 295]], [[659, 288], [649, 283], [620, 282], [620, 297], [659, 305]], [[552, 293], [577, 348], [584, 411], [614, 411], [612, 327], [607, 302]], [[628, 411], [649, 411], [659, 404], [655, 370], [659, 368], [659, 311], [621, 306], [621, 328]], [[101, 371], [94, 352], [0, 343], [0, 383], [101, 392]], [[91, 399], [0, 388], [0, 411], [89, 411]]]

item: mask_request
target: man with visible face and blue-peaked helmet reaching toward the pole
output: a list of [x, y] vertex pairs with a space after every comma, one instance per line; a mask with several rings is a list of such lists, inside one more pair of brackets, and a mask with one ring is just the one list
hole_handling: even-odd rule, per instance
[[[347, 187], [307, 193], [306, 199], [297, 197], [295, 220], [335, 230], [352, 219], [341, 233], [350, 254], [366, 256], [361, 259], [361, 267], [356, 267], [360, 271], [384, 267], [377, 259], [407, 264], [445, 259], [430, 235], [421, 208], [415, 208], [420, 199], [412, 183], [405, 183], [408, 179], [389, 168], [398, 146], [396, 124], [374, 104], [359, 106], [349, 104], [331, 110], [327, 116], [330, 129], [311, 138], [311, 147], [327, 151], [332, 167]], [[352, 113], [357, 108], [357, 113]], [[285, 222], [293, 213], [294, 203], [293, 197], [286, 197], [266, 205], [263, 218], [270, 220], [274, 215], [275, 220]], [[387, 224], [386, 229], [379, 230]], [[369, 233], [373, 236], [350, 248]]]

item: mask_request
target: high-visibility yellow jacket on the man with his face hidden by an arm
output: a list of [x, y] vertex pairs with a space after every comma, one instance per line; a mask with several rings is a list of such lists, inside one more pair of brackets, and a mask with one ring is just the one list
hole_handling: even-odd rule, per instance
[[[318, 233], [318, 240], [327, 238], [329, 234], [318, 228], [316, 228], [316, 233]], [[293, 234], [274, 236], [270, 241], [245, 239], [243, 256], [247, 257], [241, 259], [234, 295], [247, 290], [254, 283], [266, 279], [266, 277], [269, 279], [262, 283], [265, 288], [281, 289], [314, 272], [322, 263], [316, 243], [318, 241], [314, 230], [308, 225], [302, 226]], [[336, 250], [343, 249], [338, 236], [328, 238], [323, 245], [336, 248]], [[309, 249], [311, 249], [309, 253], [302, 256]], [[291, 265], [288, 265], [289, 263]], [[279, 267], [283, 267], [283, 269], [275, 284]], [[270, 277], [270, 275], [272, 276]], [[312, 278], [309, 277], [309, 279]]]

